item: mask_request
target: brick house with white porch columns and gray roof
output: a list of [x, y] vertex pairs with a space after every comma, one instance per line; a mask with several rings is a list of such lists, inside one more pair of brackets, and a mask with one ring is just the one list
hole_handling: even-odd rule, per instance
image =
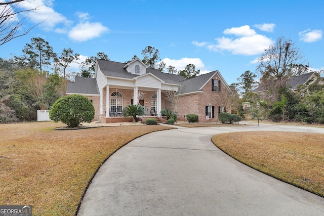
[[166, 92], [178, 89], [182, 90], [178, 118], [184, 120], [187, 114], [194, 113], [199, 116], [199, 122], [218, 121], [219, 112], [225, 111], [224, 100], [231, 93], [218, 70], [185, 79], [148, 68], [139, 59], [127, 64], [98, 59], [94, 78], [75, 77], [74, 82], [67, 83], [66, 94], [86, 96], [94, 104], [94, 120], [110, 123], [131, 121], [121, 117], [123, 108], [130, 104], [143, 105], [147, 116], [159, 115], [162, 109], [172, 110]]

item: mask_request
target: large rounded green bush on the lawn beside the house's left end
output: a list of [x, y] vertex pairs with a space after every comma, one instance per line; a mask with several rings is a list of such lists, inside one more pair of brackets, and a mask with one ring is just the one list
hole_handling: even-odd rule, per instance
[[50, 109], [50, 119], [62, 121], [67, 127], [78, 127], [81, 122], [90, 123], [95, 117], [91, 101], [82, 95], [68, 95], [58, 99]]

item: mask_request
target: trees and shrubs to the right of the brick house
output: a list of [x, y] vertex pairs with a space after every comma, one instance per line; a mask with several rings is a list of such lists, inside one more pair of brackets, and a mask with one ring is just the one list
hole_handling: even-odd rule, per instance
[[[292, 40], [279, 37], [259, 58], [258, 81], [255, 73], [246, 71], [237, 78], [238, 82], [231, 84], [232, 113], [272, 121], [323, 124], [324, 85], [308, 80], [297, 91], [289, 86], [292, 77], [307, 72], [311, 71], [299, 48]], [[262, 93], [252, 93], [257, 86]], [[243, 102], [250, 102], [251, 107], [244, 110]]]

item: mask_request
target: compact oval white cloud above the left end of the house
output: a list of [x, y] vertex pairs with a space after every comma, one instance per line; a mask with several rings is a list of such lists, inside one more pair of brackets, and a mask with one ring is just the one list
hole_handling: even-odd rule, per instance
[[109, 28], [99, 22], [85, 22], [74, 26], [68, 33], [70, 39], [78, 42], [100, 37], [102, 33], [109, 32]]

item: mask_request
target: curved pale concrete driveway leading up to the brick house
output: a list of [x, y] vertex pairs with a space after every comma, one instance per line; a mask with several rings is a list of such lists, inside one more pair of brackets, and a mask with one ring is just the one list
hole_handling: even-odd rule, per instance
[[145, 135], [102, 165], [78, 215], [324, 215], [324, 198], [241, 164], [211, 142], [247, 131], [324, 128], [179, 127]]

